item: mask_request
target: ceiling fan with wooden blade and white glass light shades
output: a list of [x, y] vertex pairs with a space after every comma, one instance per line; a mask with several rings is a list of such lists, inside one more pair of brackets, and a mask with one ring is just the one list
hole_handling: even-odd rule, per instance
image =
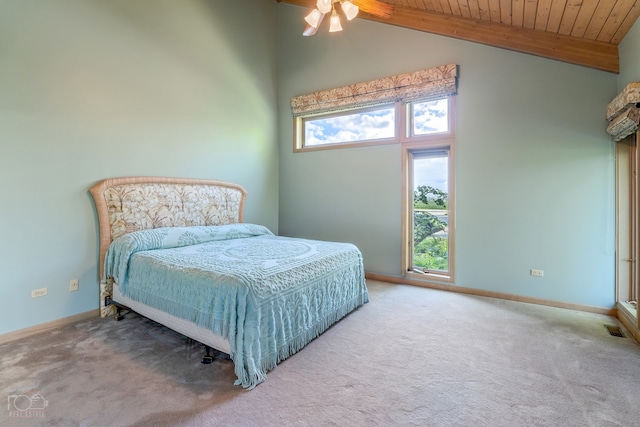
[[335, 3], [340, 3], [342, 12], [349, 21], [356, 17], [358, 11], [382, 19], [388, 19], [393, 13], [393, 5], [378, 0], [318, 0], [316, 2], [316, 8], [304, 18], [307, 26], [302, 35], [314, 35], [316, 31], [318, 31], [318, 27], [320, 27], [324, 17], [329, 14], [331, 15], [329, 18], [329, 32], [342, 31], [342, 25], [340, 24], [340, 17]]

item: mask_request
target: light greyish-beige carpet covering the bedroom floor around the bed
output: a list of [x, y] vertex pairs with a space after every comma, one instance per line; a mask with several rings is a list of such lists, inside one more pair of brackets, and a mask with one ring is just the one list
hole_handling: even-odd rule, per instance
[[[371, 302], [268, 374], [129, 315], [0, 346], [4, 426], [631, 426], [640, 346], [570, 310], [369, 281]], [[31, 418], [8, 408], [32, 399]], [[26, 396], [26, 397], [25, 397]], [[36, 396], [36, 397], [33, 397]], [[42, 399], [38, 400], [37, 396]], [[20, 411], [18, 411], [20, 412]], [[22, 411], [23, 415], [28, 411]], [[42, 417], [38, 417], [42, 415]]]

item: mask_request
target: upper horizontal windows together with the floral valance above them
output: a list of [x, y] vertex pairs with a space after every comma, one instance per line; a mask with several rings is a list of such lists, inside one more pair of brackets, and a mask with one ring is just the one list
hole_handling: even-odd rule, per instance
[[451, 133], [455, 64], [291, 98], [294, 151], [398, 143]]

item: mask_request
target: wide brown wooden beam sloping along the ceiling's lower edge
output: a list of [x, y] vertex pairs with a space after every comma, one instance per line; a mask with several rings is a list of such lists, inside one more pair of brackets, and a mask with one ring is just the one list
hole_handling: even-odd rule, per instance
[[[308, 8], [315, 5], [314, 0], [277, 1]], [[358, 18], [509, 49], [611, 73], [620, 72], [618, 46], [611, 43], [431, 13], [398, 5], [395, 6], [393, 14], [388, 19], [365, 13], [359, 14]]]

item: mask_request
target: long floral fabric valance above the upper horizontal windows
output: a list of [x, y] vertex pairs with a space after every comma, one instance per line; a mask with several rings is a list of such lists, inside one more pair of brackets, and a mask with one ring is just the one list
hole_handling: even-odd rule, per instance
[[291, 98], [294, 117], [389, 102], [410, 102], [456, 94], [455, 64], [398, 74]]

